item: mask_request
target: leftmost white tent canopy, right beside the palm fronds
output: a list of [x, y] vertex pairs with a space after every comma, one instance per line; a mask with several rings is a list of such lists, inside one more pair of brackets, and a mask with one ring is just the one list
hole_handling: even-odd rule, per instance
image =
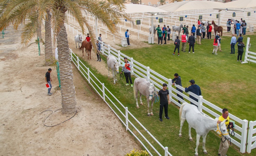
[[125, 7], [124, 13], [167, 12], [156, 7], [141, 4], [125, 4]]

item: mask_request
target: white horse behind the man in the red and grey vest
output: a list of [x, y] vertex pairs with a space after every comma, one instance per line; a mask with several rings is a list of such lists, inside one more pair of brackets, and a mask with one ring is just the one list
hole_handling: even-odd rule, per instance
[[113, 55], [109, 55], [107, 57], [107, 66], [108, 66], [108, 77], [109, 77], [109, 70], [112, 70], [112, 75], [114, 79], [114, 84], [116, 84], [116, 73], [119, 73], [119, 65], [116, 58]]

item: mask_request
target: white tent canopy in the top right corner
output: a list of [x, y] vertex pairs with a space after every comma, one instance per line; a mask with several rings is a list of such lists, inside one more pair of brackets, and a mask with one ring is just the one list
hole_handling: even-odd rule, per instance
[[251, 8], [256, 7], [256, 0], [237, 0], [224, 3], [226, 8]]

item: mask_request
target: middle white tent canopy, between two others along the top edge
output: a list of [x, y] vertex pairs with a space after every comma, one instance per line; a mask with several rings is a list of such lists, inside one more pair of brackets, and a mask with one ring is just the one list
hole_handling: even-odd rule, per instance
[[[256, 1], [256, 0], [255, 0]], [[213, 1], [182, 1], [176, 3], [169, 3], [157, 8], [163, 9], [168, 12], [187, 11], [196, 9], [214, 9], [223, 8], [224, 3]]]

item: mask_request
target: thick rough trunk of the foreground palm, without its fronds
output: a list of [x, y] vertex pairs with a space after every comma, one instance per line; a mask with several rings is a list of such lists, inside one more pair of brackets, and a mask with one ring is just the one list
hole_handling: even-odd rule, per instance
[[60, 26], [61, 31], [57, 37], [57, 47], [61, 79], [62, 113], [72, 114], [76, 112], [76, 92], [73, 84], [68, 35], [64, 23]]

